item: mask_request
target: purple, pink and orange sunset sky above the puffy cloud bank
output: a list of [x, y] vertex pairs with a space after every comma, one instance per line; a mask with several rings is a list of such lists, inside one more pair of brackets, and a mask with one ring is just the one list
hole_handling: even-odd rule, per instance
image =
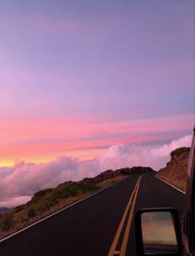
[[193, 0], [0, 1], [0, 166], [193, 129]]

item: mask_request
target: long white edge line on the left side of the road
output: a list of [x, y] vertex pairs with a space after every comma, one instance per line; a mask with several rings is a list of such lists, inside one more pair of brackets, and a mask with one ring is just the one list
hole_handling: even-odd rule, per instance
[[101, 188], [100, 190], [96, 191], [95, 193], [90, 193], [88, 196], [86, 196], [85, 198], [82, 198], [80, 199], [79, 201], [76, 201], [75, 203], [71, 203], [70, 205], [66, 206], [65, 208], [61, 208], [60, 210], [56, 211], [55, 213], [51, 213], [50, 215], [44, 217], [44, 218], [41, 218], [40, 220], [38, 220], [37, 222], [35, 223], [32, 223], [30, 224], [29, 226], [25, 227], [25, 228], [22, 228], [20, 230], [18, 230], [17, 232], [15, 233], [12, 233], [10, 235], [8, 235], [7, 237], [5, 238], [2, 238], [0, 239], [0, 243], [2, 243], [3, 241], [7, 240], [8, 238], [12, 238], [13, 236], [17, 235], [17, 233], [22, 233], [24, 230], [28, 229], [28, 228], [31, 228], [32, 226], [35, 226], [37, 225], [38, 223], [41, 223], [42, 221], [46, 220], [46, 218], [51, 218], [53, 215], [56, 215], [57, 213], [61, 213], [62, 211], [66, 210], [67, 208], [71, 208], [72, 206], [76, 205], [77, 203], [80, 203], [82, 201], [84, 201], [85, 199], [87, 198], [90, 198], [92, 196], [94, 196], [96, 193], [100, 193], [102, 192], [103, 190], [107, 189], [107, 188], [110, 188], [111, 186], [114, 186], [115, 184], [117, 183], [120, 183], [121, 181], [123, 181], [125, 178], [115, 182], [115, 183], [112, 183], [110, 184], [109, 186], [105, 187], [105, 188]]

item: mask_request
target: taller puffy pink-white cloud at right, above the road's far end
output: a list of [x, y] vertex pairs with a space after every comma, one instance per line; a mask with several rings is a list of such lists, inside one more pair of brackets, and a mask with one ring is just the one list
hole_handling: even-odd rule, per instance
[[193, 136], [178, 138], [158, 147], [148, 147], [144, 144], [119, 144], [110, 147], [100, 155], [101, 168], [121, 168], [132, 166], [149, 166], [158, 170], [163, 168], [170, 159], [170, 153], [175, 148], [190, 147]]

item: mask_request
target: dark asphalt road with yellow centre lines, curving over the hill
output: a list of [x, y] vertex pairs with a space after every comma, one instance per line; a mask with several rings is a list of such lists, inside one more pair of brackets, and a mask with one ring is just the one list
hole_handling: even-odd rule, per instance
[[0, 255], [136, 255], [133, 212], [173, 207], [183, 214], [184, 204], [185, 195], [154, 174], [132, 175], [3, 241]]

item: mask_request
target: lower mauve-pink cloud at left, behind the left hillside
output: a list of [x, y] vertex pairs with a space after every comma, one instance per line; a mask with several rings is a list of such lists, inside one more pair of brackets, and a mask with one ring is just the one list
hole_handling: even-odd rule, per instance
[[80, 180], [100, 173], [95, 161], [56, 158], [49, 163], [17, 162], [13, 167], [0, 168], [0, 207], [25, 203], [40, 189], [52, 188], [68, 180]]

